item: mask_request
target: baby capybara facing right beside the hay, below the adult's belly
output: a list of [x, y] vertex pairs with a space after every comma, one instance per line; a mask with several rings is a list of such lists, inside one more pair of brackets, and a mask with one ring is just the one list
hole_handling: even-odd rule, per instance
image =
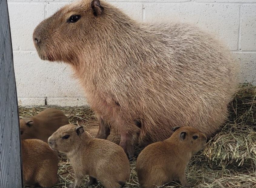
[[191, 187], [185, 169], [193, 154], [204, 148], [206, 135], [192, 127], [174, 127], [170, 138], [145, 147], [138, 156], [136, 171], [142, 187], [158, 187], [172, 181]]

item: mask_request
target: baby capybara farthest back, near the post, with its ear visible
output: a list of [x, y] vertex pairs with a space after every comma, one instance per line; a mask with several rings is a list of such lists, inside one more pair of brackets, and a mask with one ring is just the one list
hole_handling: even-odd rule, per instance
[[39, 139], [47, 143], [48, 138], [59, 127], [67, 125], [68, 118], [59, 109], [45, 109], [30, 118], [20, 119], [22, 139]]

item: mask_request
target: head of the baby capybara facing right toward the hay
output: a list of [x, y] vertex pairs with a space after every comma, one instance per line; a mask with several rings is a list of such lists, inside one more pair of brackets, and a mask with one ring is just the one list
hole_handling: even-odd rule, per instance
[[174, 137], [175, 139], [179, 140], [181, 144], [184, 144], [184, 149], [191, 149], [192, 154], [203, 149], [206, 144], [206, 135], [193, 127], [177, 126], [174, 127], [172, 130], [174, 131], [174, 133], [173, 135], [171, 135], [171, 137]]

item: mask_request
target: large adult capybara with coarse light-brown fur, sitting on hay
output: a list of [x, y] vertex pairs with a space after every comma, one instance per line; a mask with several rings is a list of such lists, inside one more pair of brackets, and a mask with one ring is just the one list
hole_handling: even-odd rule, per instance
[[99, 0], [66, 5], [33, 34], [43, 60], [68, 63], [100, 120], [131, 157], [140, 141], [161, 141], [176, 125], [207, 137], [224, 123], [237, 88], [228, 49], [197, 27], [134, 21]]

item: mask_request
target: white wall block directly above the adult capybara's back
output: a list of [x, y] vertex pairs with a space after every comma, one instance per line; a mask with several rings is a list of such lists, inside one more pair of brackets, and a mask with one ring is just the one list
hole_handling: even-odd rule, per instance
[[237, 4], [145, 4], [146, 22], [172, 20], [197, 24], [216, 34], [230, 50], [237, 50], [239, 24], [239, 5]]

